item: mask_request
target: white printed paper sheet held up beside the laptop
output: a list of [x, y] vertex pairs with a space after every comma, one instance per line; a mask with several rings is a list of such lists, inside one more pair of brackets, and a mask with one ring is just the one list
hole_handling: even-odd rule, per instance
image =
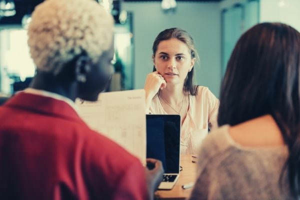
[[95, 102], [76, 100], [76, 104], [79, 115], [91, 129], [112, 139], [145, 164], [146, 119], [143, 89], [104, 92], [99, 94]]

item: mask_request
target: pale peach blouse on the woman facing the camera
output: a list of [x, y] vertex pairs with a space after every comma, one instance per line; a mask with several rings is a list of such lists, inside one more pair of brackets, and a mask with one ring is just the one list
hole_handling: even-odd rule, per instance
[[[217, 127], [219, 100], [204, 86], [198, 86], [196, 96], [188, 96], [189, 106], [181, 124], [180, 154], [196, 154], [209, 129]], [[167, 114], [157, 96], [153, 97], [149, 113]]]

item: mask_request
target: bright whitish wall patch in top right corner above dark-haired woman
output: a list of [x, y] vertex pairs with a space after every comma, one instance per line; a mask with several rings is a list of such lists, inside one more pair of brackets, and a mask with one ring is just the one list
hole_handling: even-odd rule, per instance
[[300, 31], [300, 0], [260, 0], [260, 21], [283, 22]]

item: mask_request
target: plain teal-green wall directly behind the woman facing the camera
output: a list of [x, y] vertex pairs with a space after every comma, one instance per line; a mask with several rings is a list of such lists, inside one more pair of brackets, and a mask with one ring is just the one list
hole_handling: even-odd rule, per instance
[[220, 73], [219, 3], [177, 2], [175, 13], [163, 13], [159, 1], [123, 2], [122, 9], [133, 13], [134, 88], [142, 88], [152, 71], [152, 43], [165, 28], [180, 27], [191, 34], [200, 56], [196, 80], [218, 96]]

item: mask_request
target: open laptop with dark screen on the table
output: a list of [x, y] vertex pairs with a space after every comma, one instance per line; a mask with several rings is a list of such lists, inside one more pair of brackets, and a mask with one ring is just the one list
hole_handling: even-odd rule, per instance
[[180, 115], [146, 114], [146, 157], [162, 162], [163, 181], [158, 189], [171, 189], [179, 176]]

